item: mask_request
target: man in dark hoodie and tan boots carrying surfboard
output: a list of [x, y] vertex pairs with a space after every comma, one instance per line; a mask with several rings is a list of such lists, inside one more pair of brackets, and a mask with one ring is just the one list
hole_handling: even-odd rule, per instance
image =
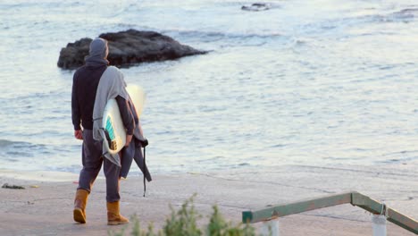
[[[96, 108], [99, 104], [98, 101], [105, 104], [107, 98], [111, 97], [115, 98], [120, 106], [121, 117], [127, 130], [126, 147], [130, 146], [135, 129], [135, 121], [128, 106], [129, 96], [124, 88], [126, 84], [121, 72], [113, 66], [108, 66], [109, 62], [106, 59], [108, 54], [107, 41], [103, 38], [95, 38], [90, 43], [89, 55], [86, 57], [85, 65], [80, 67], [73, 76], [71, 114], [74, 137], [83, 140], [83, 168], [79, 173], [79, 186], [73, 210], [74, 221], [78, 223], [86, 223], [88, 194], [102, 164], [104, 164], [106, 179], [107, 223], [110, 225], [129, 223], [129, 220], [120, 214], [119, 180], [121, 167], [114, 164], [114, 161], [104, 158], [102, 155], [103, 144], [97, 138], [94, 128], [96, 120], [98, 120], [93, 118], [94, 114], [102, 112], [103, 115], [104, 109], [104, 105], [102, 105], [102, 110]], [[110, 87], [104, 84], [104, 80], [116, 82]], [[119, 156], [116, 157], [120, 162]]]

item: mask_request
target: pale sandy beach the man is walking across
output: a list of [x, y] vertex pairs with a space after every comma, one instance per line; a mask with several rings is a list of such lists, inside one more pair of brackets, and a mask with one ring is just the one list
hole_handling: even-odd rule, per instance
[[[0, 235], [107, 235], [123, 226], [106, 225], [103, 177], [88, 198], [88, 223], [72, 221], [72, 201], [77, 174], [1, 171], [0, 183], [25, 190], [0, 189]], [[154, 176], [143, 198], [140, 176], [121, 181], [121, 213], [138, 215], [143, 227], [163, 226], [169, 204], [179, 207], [196, 193], [196, 210], [204, 216], [214, 204], [233, 223], [244, 210], [260, 209], [305, 198], [357, 190], [384, 201], [389, 207], [418, 218], [418, 173], [399, 164], [372, 170], [361, 166], [342, 168], [285, 165], [263, 173], [180, 173]], [[370, 213], [351, 205], [334, 206], [280, 218], [280, 235], [372, 235]], [[127, 234], [130, 232], [128, 225]], [[261, 223], [255, 223], [259, 228]], [[388, 223], [388, 235], [414, 235]]]

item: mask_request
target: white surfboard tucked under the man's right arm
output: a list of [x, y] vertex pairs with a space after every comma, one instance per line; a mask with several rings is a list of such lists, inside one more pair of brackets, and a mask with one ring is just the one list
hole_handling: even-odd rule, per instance
[[[129, 84], [126, 87], [126, 90], [130, 95], [130, 99], [135, 106], [139, 118], [144, 109], [146, 100], [144, 89], [138, 85]], [[110, 99], [104, 106], [102, 127], [104, 128], [107, 140], [107, 142], [105, 142], [106, 145], [104, 145], [107, 149], [106, 151], [112, 155], [119, 153], [126, 143], [126, 131], [116, 99]]]

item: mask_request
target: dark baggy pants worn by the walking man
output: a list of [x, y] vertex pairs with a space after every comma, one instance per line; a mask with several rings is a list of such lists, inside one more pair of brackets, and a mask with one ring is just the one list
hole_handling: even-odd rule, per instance
[[93, 131], [91, 130], [83, 131], [82, 158], [83, 169], [79, 173], [79, 187], [77, 190], [91, 191], [103, 163], [104, 176], [106, 177], [106, 201], [119, 201], [121, 199], [119, 195], [121, 167], [102, 156], [102, 142], [93, 139]]

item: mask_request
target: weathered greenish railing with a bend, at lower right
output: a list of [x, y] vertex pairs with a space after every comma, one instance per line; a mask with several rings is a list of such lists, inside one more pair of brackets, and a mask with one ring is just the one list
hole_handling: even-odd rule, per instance
[[[353, 206], [359, 206], [364, 210], [371, 212], [374, 215], [384, 215], [384, 233], [374, 235], [386, 235], [386, 220], [395, 223], [409, 232], [418, 234], [418, 222], [413, 218], [398, 213], [396, 210], [380, 203], [372, 198], [369, 198], [359, 192], [347, 192], [336, 195], [330, 195], [322, 198], [313, 198], [303, 201], [297, 201], [279, 206], [272, 206], [256, 211], [242, 212], [243, 223], [257, 223], [266, 222], [278, 219], [286, 215], [293, 215], [323, 207], [337, 206], [350, 203]], [[374, 222], [374, 219], [373, 219]], [[373, 230], [374, 230], [373, 226]]]

